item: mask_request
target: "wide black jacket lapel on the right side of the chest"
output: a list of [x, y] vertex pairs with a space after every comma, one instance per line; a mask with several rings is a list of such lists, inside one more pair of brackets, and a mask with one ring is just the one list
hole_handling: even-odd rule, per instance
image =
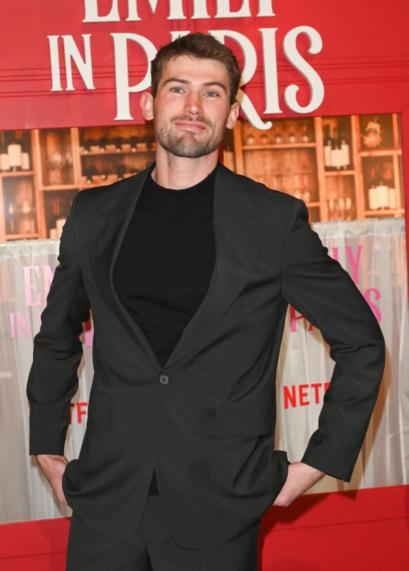
[[216, 260], [212, 279], [202, 305], [183, 331], [166, 366], [193, 350], [248, 282], [262, 241], [257, 216], [248, 189], [220, 165], [214, 189]]

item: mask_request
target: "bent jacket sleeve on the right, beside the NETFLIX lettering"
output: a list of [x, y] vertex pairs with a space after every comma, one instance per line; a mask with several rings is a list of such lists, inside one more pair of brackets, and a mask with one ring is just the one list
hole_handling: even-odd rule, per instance
[[303, 462], [350, 480], [384, 371], [384, 338], [350, 276], [329, 257], [298, 201], [286, 231], [283, 295], [317, 327], [335, 362]]

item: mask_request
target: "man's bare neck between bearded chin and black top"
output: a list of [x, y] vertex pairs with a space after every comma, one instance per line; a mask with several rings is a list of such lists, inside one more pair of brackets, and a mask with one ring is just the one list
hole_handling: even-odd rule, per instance
[[152, 171], [153, 180], [165, 188], [183, 190], [197, 185], [216, 167], [219, 151], [190, 159], [175, 156], [158, 146], [156, 165]]

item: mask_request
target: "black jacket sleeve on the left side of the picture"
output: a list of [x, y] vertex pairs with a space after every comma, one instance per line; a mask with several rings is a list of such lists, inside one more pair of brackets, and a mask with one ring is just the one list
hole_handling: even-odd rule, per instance
[[76, 195], [61, 235], [59, 265], [34, 339], [28, 377], [30, 454], [63, 455], [71, 398], [78, 388], [77, 369], [83, 355], [78, 338], [90, 317], [90, 304], [76, 260]]

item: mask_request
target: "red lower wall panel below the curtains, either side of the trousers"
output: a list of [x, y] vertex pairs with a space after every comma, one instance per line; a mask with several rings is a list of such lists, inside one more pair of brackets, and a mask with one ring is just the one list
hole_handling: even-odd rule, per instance
[[[68, 518], [0, 525], [1, 571], [63, 571]], [[260, 571], [407, 571], [409, 486], [302, 496], [271, 508]]]

